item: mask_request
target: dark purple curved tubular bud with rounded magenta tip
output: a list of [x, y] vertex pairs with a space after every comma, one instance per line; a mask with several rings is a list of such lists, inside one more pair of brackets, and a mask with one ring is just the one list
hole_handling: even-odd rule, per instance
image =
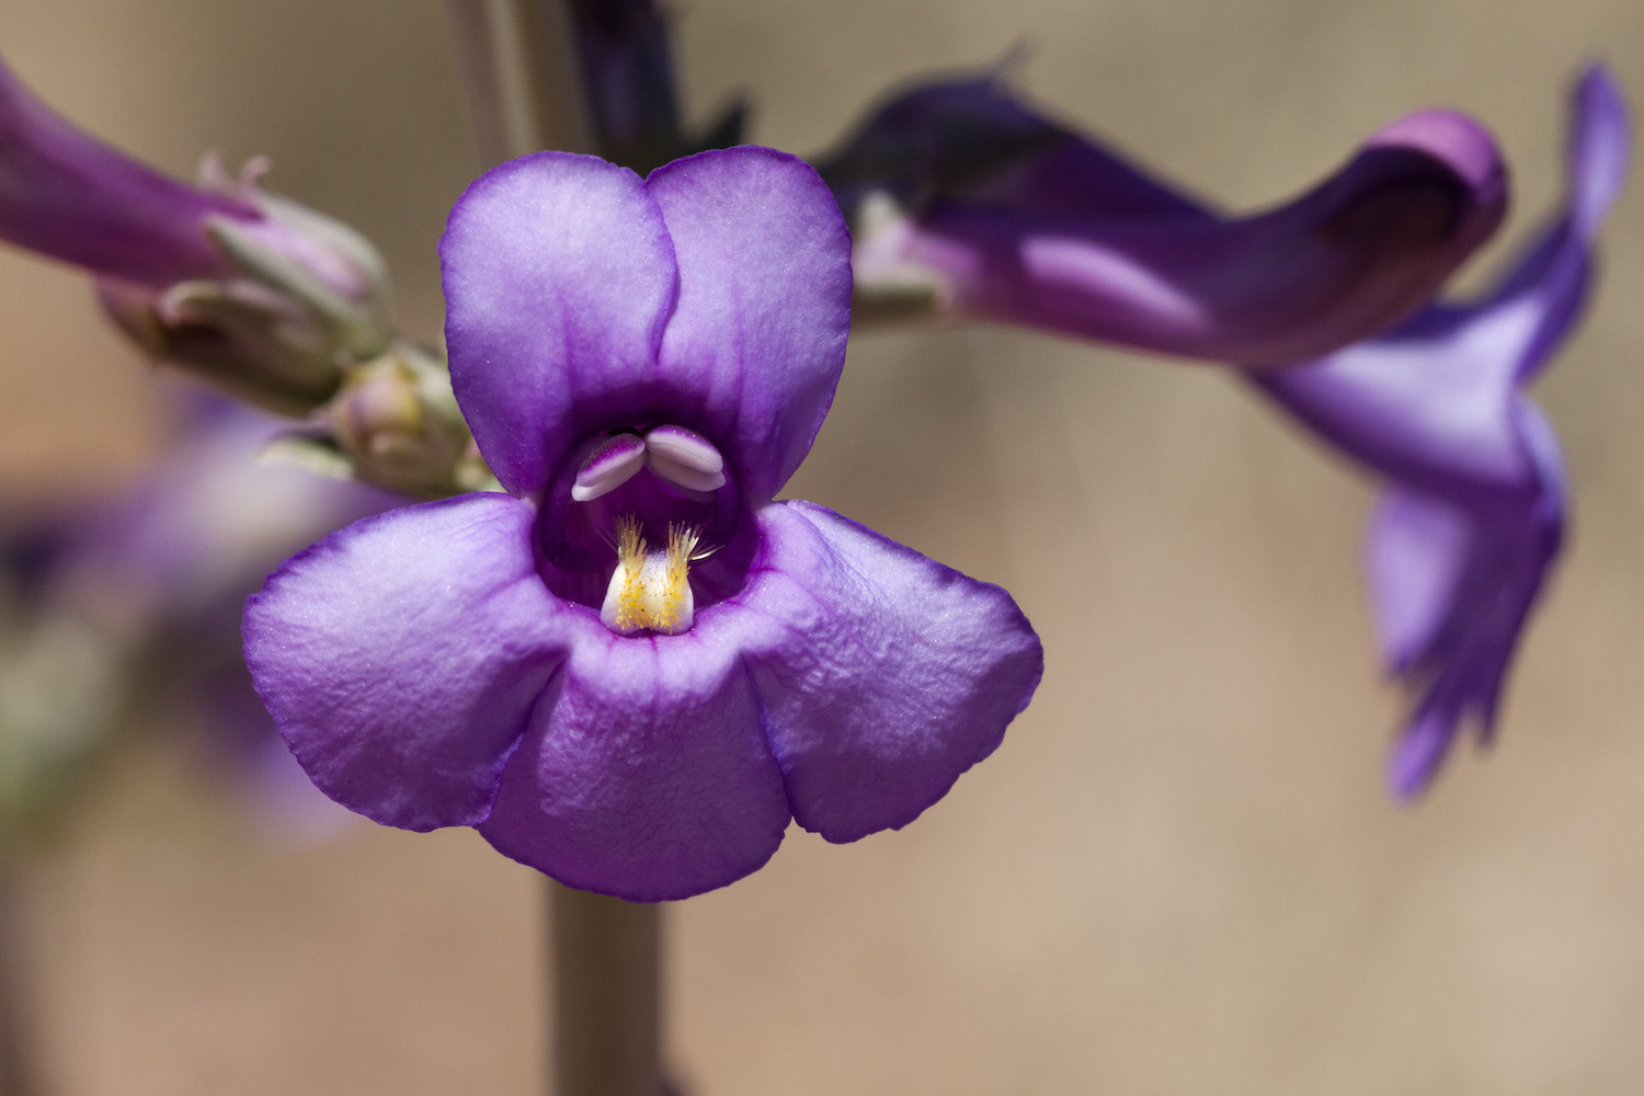
[[914, 89], [820, 164], [886, 307], [1282, 365], [1419, 307], [1499, 225], [1494, 141], [1448, 110], [1371, 136], [1292, 202], [1226, 219], [1009, 97]]

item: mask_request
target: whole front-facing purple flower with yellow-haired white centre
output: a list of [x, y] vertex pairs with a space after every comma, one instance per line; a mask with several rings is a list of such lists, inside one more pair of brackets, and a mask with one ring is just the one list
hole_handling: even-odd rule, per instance
[[446, 335], [511, 495], [360, 521], [247, 605], [324, 792], [658, 900], [755, 871], [791, 818], [906, 825], [998, 746], [1042, 665], [1009, 595], [771, 501], [838, 381], [848, 256], [815, 173], [763, 148], [469, 187]]

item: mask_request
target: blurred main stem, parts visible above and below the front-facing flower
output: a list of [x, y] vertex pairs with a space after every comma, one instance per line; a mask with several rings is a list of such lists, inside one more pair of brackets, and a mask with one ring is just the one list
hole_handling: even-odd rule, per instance
[[[597, 153], [572, 13], [559, 0], [450, 0], [485, 168]], [[661, 907], [547, 881], [557, 1096], [659, 1096]]]

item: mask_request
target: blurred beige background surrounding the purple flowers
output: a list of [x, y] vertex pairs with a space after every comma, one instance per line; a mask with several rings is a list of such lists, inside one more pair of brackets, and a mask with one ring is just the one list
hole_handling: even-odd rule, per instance
[[[1563, 92], [1644, 104], [1636, 0], [679, 0], [689, 104], [814, 151], [888, 82], [1029, 46], [1064, 117], [1231, 207], [1378, 125], [1476, 112], [1519, 237]], [[393, 261], [475, 169], [436, 0], [13, 0], [0, 54], [176, 173], [273, 184]], [[671, 910], [669, 1042], [702, 1096], [1540, 1094], [1644, 1075], [1644, 189], [1540, 386], [1577, 532], [1491, 754], [1388, 802], [1402, 711], [1361, 610], [1369, 488], [1213, 370], [1011, 330], [871, 334], [791, 495], [1009, 587], [1047, 670], [1004, 746], [901, 833], [794, 831]], [[0, 491], [151, 452], [156, 389], [72, 271], [0, 251]], [[1075, 560], [1075, 573], [1069, 562]], [[539, 1091], [541, 882], [469, 831], [271, 840], [164, 753], [35, 877], [43, 1035], [87, 1096]]]

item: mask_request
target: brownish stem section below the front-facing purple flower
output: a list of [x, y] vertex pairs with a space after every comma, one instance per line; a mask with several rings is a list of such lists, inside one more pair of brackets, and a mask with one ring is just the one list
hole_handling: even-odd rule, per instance
[[661, 907], [549, 891], [554, 1093], [659, 1096]]

